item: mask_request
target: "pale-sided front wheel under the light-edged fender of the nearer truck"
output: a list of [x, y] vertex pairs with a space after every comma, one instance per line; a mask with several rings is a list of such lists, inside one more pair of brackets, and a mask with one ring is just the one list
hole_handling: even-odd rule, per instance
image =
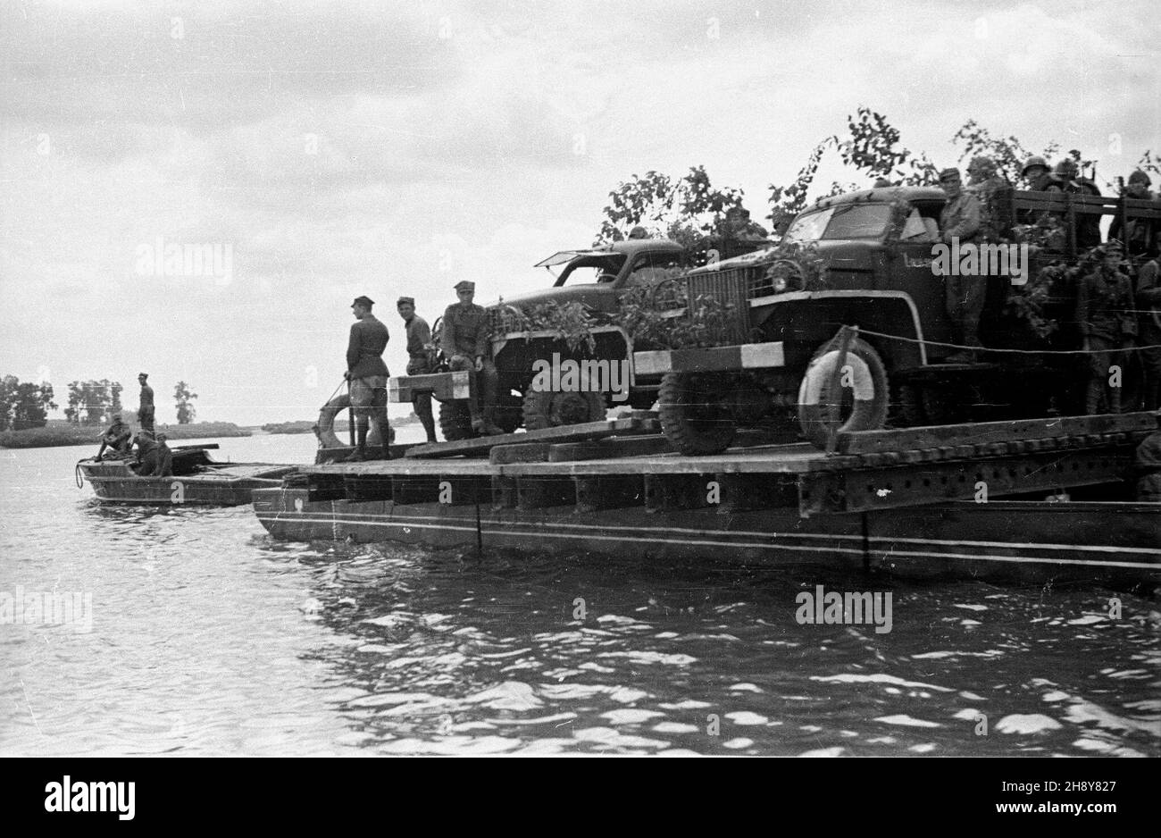
[[[815, 352], [799, 387], [799, 424], [803, 435], [819, 448], [830, 441], [830, 404], [828, 392], [838, 362], [838, 349], [830, 342]], [[887, 420], [890, 403], [887, 384], [887, 368], [879, 353], [864, 340], [856, 338], [846, 351], [846, 366], [851, 373], [849, 389], [850, 416], [838, 426], [838, 433], [852, 431], [877, 431]], [[845, 390], [848, 388], [839, 388]], [[842, 395], [839, 395], [842, 398]]]

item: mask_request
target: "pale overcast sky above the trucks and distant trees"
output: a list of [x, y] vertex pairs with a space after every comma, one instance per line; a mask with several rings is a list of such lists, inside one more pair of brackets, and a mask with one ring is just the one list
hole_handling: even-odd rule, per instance
[[[1110, 179], [1161, 150], [1146, 0], [0, 9], [0, 375], [136, 406], [146, 370], [160, 421], [179, 378], [200, 419], [313, 418], [360, 294], [402, 373], [399, 295], [432, 322], [460, 279], [543, 286], [633, 173], [702, 164], [764, 215], [859, 104], [940, 166], [967, 118]], [[159, 241], [230, 270], [152, 270]]]

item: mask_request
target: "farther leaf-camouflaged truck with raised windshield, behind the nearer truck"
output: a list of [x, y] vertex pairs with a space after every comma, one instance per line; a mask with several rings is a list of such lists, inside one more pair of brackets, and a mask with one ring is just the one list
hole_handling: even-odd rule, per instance
[[[561, 251], [534, 267], [546, 268], [553, 275], [551, 287], [486, 306], [491, 312], [492, 361], [499, 375], [496, 424], [506, 432], [521, 425], [533, 431], [597, 421], [613, 406], [651, 406], [657, 399], [661, 376], [634, 375], [633, 342], [616, 324], [616, 315], [621, 298], [630, 289], [650, 287], [661, 291], [671, 287], [673, 277], [685, 273], [688, 262], [683, 247], [668, 239], [630, 239], [607, 247]], [[554, 268], [560, 273], [553, 273]], [[560, 330], [536, 327], [534, 317], [529, 316], [535, 315], [536, 306], [551, 303], [576, 303], [583, 309], [591, 345], [570, 347]], [[437, 345], [440, 325], [437, 322], [433, 328]], [[555, 389], [540, 387], [545, 378], [538, 382], [536, 371], [546, 363], [565, 368], [575, 363], [582, 380], [549, 376], [549, 382], [560, 385]], [[612, 371], [612, 364], [622, 364], [616, 369], [619, 380], [627, 374], [623, 398], [620, 392], [603, 387], [611, 377], [600, 381], [606, 371]], [[462, 382], [456, 390], [449, 377], [463, 378], [467, 374], [450, 374], [447, 369], [446, 360], [440, 357], [435, 375], [392, 378], [390, 398], [406, 402], [417, 388], [428, 390], [440, 400], [439, 422], [444, 438], [475, 436], [468, 403], [461, 397]]]

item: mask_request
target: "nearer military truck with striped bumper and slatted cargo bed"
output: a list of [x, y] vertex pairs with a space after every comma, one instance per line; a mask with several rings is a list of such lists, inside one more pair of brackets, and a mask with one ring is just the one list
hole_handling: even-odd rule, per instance
[[[684, 280], [687, 298], [712, 296], [735, 313], [715, 346], [635, 354], [637, 376], [662, 376], [661, 421], [675, 447], [688, 455], [717, 453], [740, 425], [787, 419], [827, 447], [837, 432], [888, 421], [939, 425], [1082, 412], [1082, 356], [1044, 352], [1080, 347], [1069, 323], [1075, 288], [1065, 280], [1040, 290], [1044, 316], [1055, 316], [1060, 325], [1045, 335], [1021, 315], [1019, 283], [1054, 259], [1075, 260], [1079, 219], [1119, 215], [1155, 224], [1161, 208], [1066, 193], [993, 195], [997, 229], [1027, 236], [1050, 219], [1066, 234], [1027, 250], [1036, 255], [1024, 277], [1014, 276], [1010, 265], [986, 272], [985, 347], [1027, 354], [985, 349], [974, 362], [950, 363], [957, 347], [949, 346], [953, 328], [944, 277], [932, 268], [946, 200], [933, 187], [823, 198], [794, 218], [779, 247], [691, 270]], [[1135, 353], [1130, 357], [1139, 363]], [[1132, 404], [1126, 392], [1123, 407]]]

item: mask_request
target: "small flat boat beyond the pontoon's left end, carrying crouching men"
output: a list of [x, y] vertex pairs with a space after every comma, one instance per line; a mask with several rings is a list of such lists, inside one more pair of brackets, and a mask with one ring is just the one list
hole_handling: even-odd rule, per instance
[[240, 506], [251, 501], [255, 489], [276, 487], [298, 468], [221, 463], [205, 453], [212, 448], [217, 443], [173, 447], [172, 477], [140, 477], [131, 458], [81, 460], [77, 463], [77, 485], [88, 481], [96, 499], [108, 504]]

